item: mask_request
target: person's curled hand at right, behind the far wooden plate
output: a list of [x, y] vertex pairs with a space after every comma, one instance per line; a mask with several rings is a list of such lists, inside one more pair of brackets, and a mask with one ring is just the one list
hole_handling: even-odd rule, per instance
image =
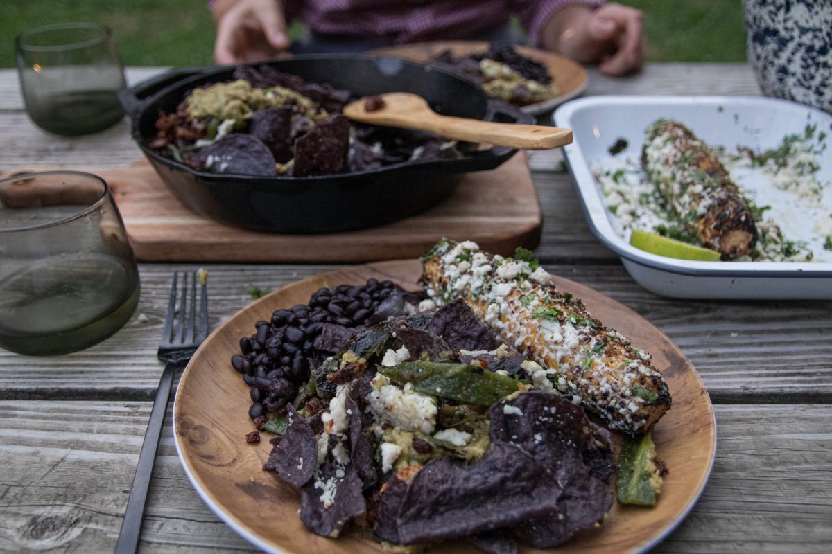
[[598, 63], [608, 75], [638, 71], [644, 63], [644, 13], [611, 2], [592, 9], [562, 8], [548, 22], [543, 46], [582, 63]]

